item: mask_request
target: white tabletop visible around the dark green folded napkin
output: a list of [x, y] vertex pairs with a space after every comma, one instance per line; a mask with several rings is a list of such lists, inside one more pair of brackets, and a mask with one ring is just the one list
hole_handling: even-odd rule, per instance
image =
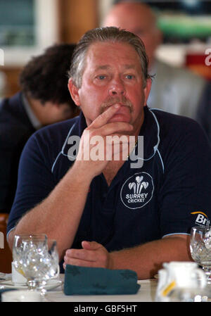
[[[64, 274], [60, 274], [63, 280]], [[157, 289], [157, 279], [139, 280], [141, 285], [139, 291], [132, 295], [87, 295], [66, 296], [63, 286], [47, 292], [46, 298], [53, 302], [153, 302]]]

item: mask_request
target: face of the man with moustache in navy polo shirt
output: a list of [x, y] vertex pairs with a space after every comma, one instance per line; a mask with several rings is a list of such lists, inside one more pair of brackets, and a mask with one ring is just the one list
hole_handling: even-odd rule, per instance
[[87, 125], [108, 106], [120, 103], [120, 110], [110, 122], [129, 122], [134, 129], [140, 129], [150, 87], [151, 80], [147, 80], [143, 88], [139, 55], [131, 45], [96, 42], [87, 51], [82, 86], [72, 97], [81, 107]]

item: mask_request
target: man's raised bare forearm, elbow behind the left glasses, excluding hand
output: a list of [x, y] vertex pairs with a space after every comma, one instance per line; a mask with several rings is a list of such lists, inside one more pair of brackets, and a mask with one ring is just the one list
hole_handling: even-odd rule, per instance
[[8, 236], [10, 246], [14, 234], [45, 233], [56, 239], [61, 258], [77, 232], [90, 182], [91, 177], [80, 175], [77, 168], [70, 169], [51, 194], [18, 222]]

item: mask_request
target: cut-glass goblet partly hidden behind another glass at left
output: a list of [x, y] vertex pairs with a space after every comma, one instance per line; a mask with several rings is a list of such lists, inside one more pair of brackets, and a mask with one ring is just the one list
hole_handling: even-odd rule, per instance
[[15, 235], [13, 242], [13, 263], [15, 266], [15, 270], [18, 273], [23, 274], [22, 264], [23, 264], [23, 251], [24, 251], [24, 243], [25, 240], [38, 240], [42, 241], [46, 244], [47, 236], [46, 234], [19, 234]]

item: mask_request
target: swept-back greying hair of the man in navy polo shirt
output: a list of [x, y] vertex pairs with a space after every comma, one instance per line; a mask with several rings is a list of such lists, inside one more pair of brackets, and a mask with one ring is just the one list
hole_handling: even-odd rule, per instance
[[117, 27], [99, 27], [86, 32], [79, 40], [72, 55], [69, 76], [77, 88], [82, 86], [82, 75], [85, 69], [86, 55], [91, 44], [96, 42], [124, 42], [134, 47], [139, 55], [143, 72], [143, 86], [146, 86], [148, 75], [148, 57], [143, 42], [135, 34]]

